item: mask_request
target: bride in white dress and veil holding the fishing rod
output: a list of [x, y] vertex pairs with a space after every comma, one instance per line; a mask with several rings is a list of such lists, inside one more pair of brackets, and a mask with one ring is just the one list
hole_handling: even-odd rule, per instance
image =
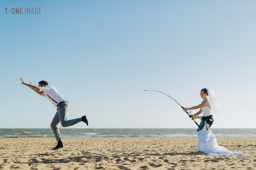
[[[212, 113], [220, 113], [222, 112], [222, 107], [220, 104], [220, 100], [216, 96], [214, 90], [211, 87], [207, 87], [201, 90], [200, 92], [201, 98], [203, 99], [202, 103], [198, 106], [184, 108], [184, 111], [189, 110], [200, 110], [194, 115], [200, 115], [203, 112], [203, 122], [204, 126], [201, 130], [198, 131], [198, 151], [204, 152], [208, 155], [248, 155], [247, 153], [241, 152], [230, 152], [223, 146], [218, 145], [217, 139], [212, 133], [210, 129], [213, 116]], [[209, 95], [210, 99], [207, 99]], [[191, 116], [194, 116], [191, 115]], [[203, 123], [202, 122], [202, 123]], [[200, 125], [202, 124], [200, 123]]]

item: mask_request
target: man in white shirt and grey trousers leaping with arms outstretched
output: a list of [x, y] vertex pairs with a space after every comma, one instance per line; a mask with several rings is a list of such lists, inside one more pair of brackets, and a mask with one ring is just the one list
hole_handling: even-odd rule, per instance
[[58, 144], [52, 148], [52, 150], [60, 149], [64, 145], [61, 141], [60, 137], [60, 131], [57, 127], [57, 125], [60, 123], [62, 127], [68, 127], [72, 126], [78, 122], [84, 122], [88, 126], [88, 121], [86, 119], [86, 116], [82, 116], [81, 118], [67, 120], [68, 115], [68, 101], [56, 90], [54, 86], [48, 85], [48, 82], [45, 80], [42, 80], [38, 82], [38, 87], [35, 85], [27, 84], [23, 81], [22, 78], [20, 78], [22, 81], [21, 84], [28, 86], [32, 90], [34, 90], [37, 94], [40, 94], [41, 96], [46, 97], [48, 100], [52, 102], [52, 104], [57, 107], [57, 112], [55, 116], [52, 119], [51, 128], [53, 131], [53, 134], [58, 142]]

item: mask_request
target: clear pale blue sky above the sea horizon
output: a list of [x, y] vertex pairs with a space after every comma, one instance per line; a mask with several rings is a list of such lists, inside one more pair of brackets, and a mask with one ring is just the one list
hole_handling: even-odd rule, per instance
[[[87, 116], [88, 127], [68, 128], [197, 129], [171, 98], [144, 90], [193, 107], [208, 86], [223, 107], [212, 128], [256, 128], [256, 1], [1, 0], [0, 6], [0, 128], [50, 128], [56, 113], [20, 77], [54, 86], [69, 101], [68, 119]], [[41, 14], [8, 12], [36, 7]]]

